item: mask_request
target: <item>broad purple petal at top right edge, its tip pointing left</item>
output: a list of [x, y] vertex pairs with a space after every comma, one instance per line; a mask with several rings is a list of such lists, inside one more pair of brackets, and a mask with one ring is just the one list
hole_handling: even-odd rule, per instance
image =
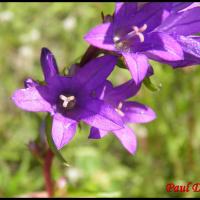
[[191, 35], [200, 32], [200, 7], [170, 15], [156, 31], [170, 34]]

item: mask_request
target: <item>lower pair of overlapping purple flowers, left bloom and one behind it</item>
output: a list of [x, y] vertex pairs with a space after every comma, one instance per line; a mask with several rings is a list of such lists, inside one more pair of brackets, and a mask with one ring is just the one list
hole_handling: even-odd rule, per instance
[[89, 138], [97, 138], [97, 131], [101, 133], [99, 137], [114, 131], [125, 148], [134, 153], [135, 135], [125, 123], [147, 122], [153, 120], [155, 114], [141, 104], [124, 103], [139, 89], [133, 81], [116, 88], [106, 81], [116, 62], [115, 56], [105, 55], [93, 59], [73, 76], [62, 76], [53, 54], [43, 48], [41, 65], [45, 84], [28, 78], [25, 88], [16, 90], [12, 99], [26, 111], [51, 114], [52, 138], [58, 149], [73, 138], [77, 123], [83, 121], [92, 127]]

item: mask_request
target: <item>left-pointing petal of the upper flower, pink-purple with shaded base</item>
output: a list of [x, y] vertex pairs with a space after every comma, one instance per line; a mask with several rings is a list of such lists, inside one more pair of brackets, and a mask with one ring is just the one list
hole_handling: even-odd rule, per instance
[[114, 29], [112, 23], [100, 24], [92, 28], [84, 39], [91, 45], [102, 49], [114, 51], [115, 44], [113, 42]]

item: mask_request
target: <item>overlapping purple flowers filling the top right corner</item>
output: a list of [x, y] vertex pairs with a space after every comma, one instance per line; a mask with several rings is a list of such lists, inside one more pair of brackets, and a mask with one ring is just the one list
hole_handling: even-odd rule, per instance
[[84, 37], [98, 48], [122, 55], [133, 80], [148, 74], [148, 58], [172, 66], [197, 62], [200, 57], [198, 3], [116, 3], [113, 20], [100, 24]]

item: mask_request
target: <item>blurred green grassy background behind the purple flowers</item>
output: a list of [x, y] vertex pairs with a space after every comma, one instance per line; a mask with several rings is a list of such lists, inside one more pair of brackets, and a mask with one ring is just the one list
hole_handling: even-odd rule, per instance
[[[0, 196], [14, 197], [44, 190], [42, 169], [27, 148], [39, 132], [44, 114], [28, 113], [11, 101], [23, 80], [42, 80], [42, 47], [54, 52], [60, 70], [80, 57], [88, 44], [83, 36], [111, 14], [114, 3], [0, 3]], [[200, 68], [172, 70], [152, 62], [155, 84], [145, 86], [134, 100], [149, 105], [157, 119], [133, 125], [138, 150], [130, 155], [114, 135], [88, 140], [79, 130], [61, 152], [70, 167], [53, 163], [57, 196], [67, 197], [198, 197], [199, 193], [167, 193], [166, 184], [199, 182]], [[130, 78], [115, 69], [115, 84]]]

